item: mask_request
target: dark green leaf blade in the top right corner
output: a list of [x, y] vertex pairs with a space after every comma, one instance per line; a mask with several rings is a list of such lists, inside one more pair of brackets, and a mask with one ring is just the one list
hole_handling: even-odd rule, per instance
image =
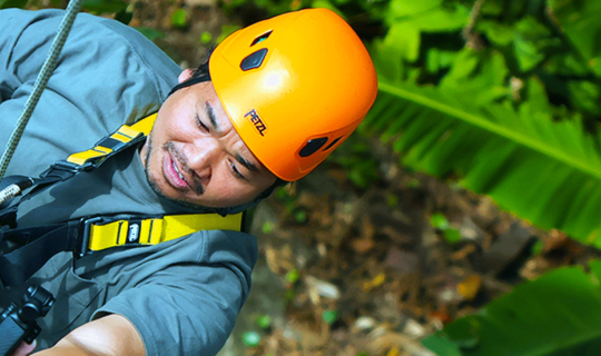
[[549, 7], [559, 20], [561, 29], [585, 63], [601, 77], [601, 1], [549, 0]]

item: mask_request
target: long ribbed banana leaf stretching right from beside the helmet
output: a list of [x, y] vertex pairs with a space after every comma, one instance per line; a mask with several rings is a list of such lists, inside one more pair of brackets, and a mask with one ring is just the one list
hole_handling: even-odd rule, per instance
[[494, 103], [477, 108], [470, 98], [435, 88], [382, 75], [378, 80], [365, 127], [383, 132], [405, 165], [459, 177], [539, 227], [601, 247], [599, 137], [584, 134], [578, 121], [553, 122], [545, 112]]

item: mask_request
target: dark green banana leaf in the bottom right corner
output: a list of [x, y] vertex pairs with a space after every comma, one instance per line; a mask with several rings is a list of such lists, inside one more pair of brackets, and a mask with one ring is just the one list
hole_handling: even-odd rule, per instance
[[601, 354], [601, 261], [553, 270], [424, 339], [439, 356]]

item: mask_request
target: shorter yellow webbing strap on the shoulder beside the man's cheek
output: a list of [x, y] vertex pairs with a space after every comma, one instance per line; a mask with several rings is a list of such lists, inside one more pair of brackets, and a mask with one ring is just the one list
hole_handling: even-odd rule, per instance
[[[141, 135], [148, 136], [150, 130], [152, 129], [152, 125], [155, 123], [157, 115], [152, 113], [138, 122], [127, 126], [121, 126], [117, 131], [115, 131], [112, 135], [110, 135], [108, 138], [105, 138], [104, 140], [100, 140], [97, 146], [85, 150], [82, 152], [72, 154], [67, 158], [67, 161], [83, 166], [86, 162], [98, 159], [105, 156], [110, 155], [114, 149], [111, 147], [104, 147], [101, 146], [104, 142], [121, 142], [121, 144], [128, 144], [132, 139], [137, 138]], [[112, 140], [111, 140], [112, 139]]]

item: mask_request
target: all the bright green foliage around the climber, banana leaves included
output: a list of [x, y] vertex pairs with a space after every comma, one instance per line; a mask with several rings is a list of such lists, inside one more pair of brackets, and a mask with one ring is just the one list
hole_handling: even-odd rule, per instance
[[[0, 8], [26, 3], [0, 0]], [[120, 0], [88, 0], [85, 7], [129, 21]], [[223, 7], [259, 17], [326, 7], [365, 40], [378, 72], [378, 99], [357, 141], [332, 158], [349, 169], [358, 188], [377, 180], [377, 164], [366, 158], [362, 141], [376, 137], [412, 170], [459, 181], [538, 227], [601, 247], [600, 1], [230, 0]], [[174, 13], [173, 26], [187, 21], [185, 10]], [[200, 39], [211, 40], [208, 33]], [[299, 224], [307, 220], [294, 197], [284, 190], [278, 196]], [[431, 224], [450, 243], [461, 238], [443, 215]], [[294, 284], [298, 273], [286, 279]], [[592, 261], [590, 273], [553, 270], [451, 323], [424, 345], [453, 356], [597, 354], [600, 279], [601, 261]], [[323, 316], [328, 324], [337, 318], [335, 310]], [[259, 342], [258, 334], [245, 334], [246, 345]]]

